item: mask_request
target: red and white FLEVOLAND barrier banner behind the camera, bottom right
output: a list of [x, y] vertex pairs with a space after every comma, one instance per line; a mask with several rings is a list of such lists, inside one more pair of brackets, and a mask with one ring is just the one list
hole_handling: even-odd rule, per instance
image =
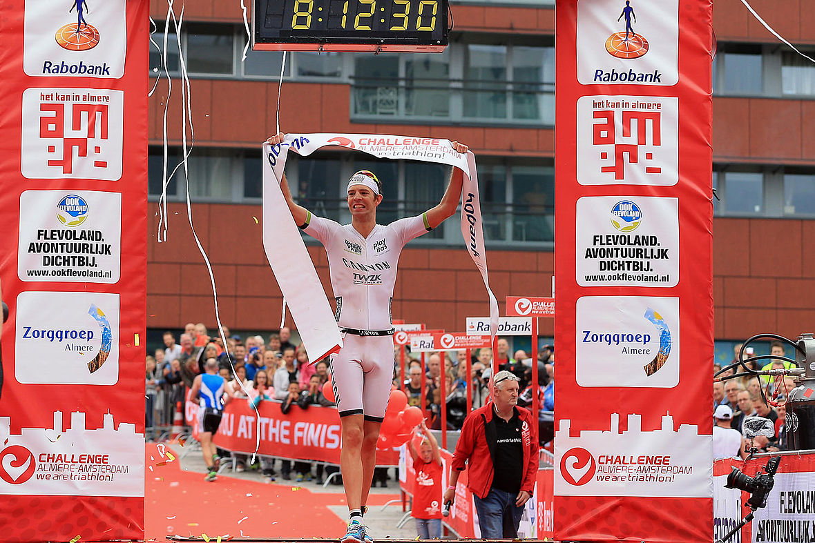
[[[725, 488], [727, 476], [736, 467], [744, 475], [762, 471], [768, 457], [743, 462], [731, 458], [717, 460], [713, 466], [715, 536], [718, 541], [730, 532], [750, 511], [743, 504], [750, 494], [736, 488]], [[782, 455], [767, 506], [756, 511], [756, 518], [731, 543], [804, 543], [815, 541], [815, 454]]]

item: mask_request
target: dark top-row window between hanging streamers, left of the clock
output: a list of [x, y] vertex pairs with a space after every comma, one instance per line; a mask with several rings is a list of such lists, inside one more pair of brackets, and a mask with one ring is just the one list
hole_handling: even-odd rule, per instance
[[231, 76], [235, 72], [234, 28], [232, 24], [188, 24], [187, 72]]

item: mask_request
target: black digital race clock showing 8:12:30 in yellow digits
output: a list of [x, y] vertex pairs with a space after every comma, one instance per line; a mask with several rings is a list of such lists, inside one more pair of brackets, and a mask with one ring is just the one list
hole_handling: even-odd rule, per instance
[[443, 50], [447, 0], [255, 0], [253, 49]]

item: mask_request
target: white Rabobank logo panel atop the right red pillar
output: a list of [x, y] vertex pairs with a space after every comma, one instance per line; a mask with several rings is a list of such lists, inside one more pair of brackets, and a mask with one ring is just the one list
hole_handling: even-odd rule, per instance
[[580, 0], [577, 78], [584, 85], [676, 85], [678, 0]]

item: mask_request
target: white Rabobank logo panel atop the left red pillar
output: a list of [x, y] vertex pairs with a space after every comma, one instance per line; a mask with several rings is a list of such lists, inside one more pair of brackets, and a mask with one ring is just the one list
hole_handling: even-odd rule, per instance
[[125, 0], [25, 0], [23, 68], [29, 76], [119, 78], [125, 72]]

